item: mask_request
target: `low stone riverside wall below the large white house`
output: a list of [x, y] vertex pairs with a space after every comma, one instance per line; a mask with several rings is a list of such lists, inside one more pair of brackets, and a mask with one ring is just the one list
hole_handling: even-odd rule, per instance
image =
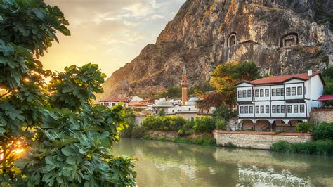
[[273, 143], [287, 141], [289, 143], [303, 143], [311, 141], [312, 136], [308, 133], [278, 133], [256, 131], [214, 131], [214, 138], [218, 146], [233, 143], [239, 148], [256, 148], [270, 150]]

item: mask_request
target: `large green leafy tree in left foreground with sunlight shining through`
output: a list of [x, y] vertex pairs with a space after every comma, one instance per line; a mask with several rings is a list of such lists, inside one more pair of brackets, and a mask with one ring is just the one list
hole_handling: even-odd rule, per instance
[[133, 160], [111, 154], [123, 109], [91, 103], [103, 91], [98, 65], [52, 74], [36, 59], [58, 41], [55, 32], [70, 35], [66, 25], [43, 1], [0, 1], [0, 184], [134, 185]]

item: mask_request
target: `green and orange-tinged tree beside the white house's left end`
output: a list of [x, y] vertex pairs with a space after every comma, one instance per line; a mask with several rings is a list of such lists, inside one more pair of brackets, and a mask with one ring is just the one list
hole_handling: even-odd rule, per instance
[[198, 102], [197, 106], [203, 109], [207, 109], [207, 105], [233, 106], [236, 102], [235, 84], [242, 80], [257, 78], [259, 78], [259, 68], [253, 62], [230, 62], [218, 65], [209, 81], [216, 91], [209, 93], [203, 101]]

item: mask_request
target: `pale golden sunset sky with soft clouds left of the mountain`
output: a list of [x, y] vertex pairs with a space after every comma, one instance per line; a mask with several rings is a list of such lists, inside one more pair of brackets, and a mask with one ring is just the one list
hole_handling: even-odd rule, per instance
[[185, 0], [45, 0], [69, 20], [70, 37], [58, 33], [41, 58], [48, 70], [97, 63], [107, 77], [154, 44]]

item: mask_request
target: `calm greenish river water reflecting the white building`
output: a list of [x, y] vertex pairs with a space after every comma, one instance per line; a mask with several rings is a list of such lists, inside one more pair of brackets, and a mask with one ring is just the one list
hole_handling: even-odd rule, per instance
[[333, 186], [333, 157], [122, 139], [138, 186]]

